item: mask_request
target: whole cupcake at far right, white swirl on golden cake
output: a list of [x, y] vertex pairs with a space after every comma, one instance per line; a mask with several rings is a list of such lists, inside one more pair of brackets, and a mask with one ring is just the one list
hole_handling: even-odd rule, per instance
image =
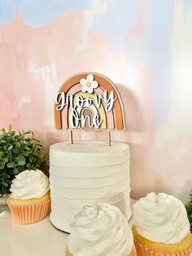
[[185, 206], [164, 193], [151, 192], [133, 206], [133, 236], [137, 256], [188, 256], [192, 252]]

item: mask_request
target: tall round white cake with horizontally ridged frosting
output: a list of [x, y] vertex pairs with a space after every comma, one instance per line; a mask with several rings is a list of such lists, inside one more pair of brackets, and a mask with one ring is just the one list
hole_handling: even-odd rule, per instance
[[69, 223], [84, 205], [105, 202], [126, 218], [129, 208], [129, 145], [105, 141], [56, 143], [50, 146], [50, 221], [70, 232]]

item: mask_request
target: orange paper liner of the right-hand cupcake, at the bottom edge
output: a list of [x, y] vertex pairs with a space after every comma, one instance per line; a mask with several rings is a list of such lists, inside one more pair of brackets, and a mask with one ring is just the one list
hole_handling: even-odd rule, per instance
[[155, 252], [151, 248], [145, 248], [142, 244], [140, 244], [137, 240], [134, 240], [135, 248], [137, 250], [137, 256], [190, 256], [192, 252], [192, 247], [185, 252], [175, 253], [175, 254], [166, 254], [161, 252]]

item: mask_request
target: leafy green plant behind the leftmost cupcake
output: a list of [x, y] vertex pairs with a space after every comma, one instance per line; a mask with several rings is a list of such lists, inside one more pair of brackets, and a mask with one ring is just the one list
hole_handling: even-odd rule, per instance
[[23, 170], [46, 170], [46, 156], [33, 131], [0, 130], [0, 195], [10, 193], [11, 180]]

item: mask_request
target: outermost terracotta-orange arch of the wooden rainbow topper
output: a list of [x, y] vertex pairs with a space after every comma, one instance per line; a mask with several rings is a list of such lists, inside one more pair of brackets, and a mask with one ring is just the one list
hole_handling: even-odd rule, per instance
[[[68, 90], [78, 84], [81, 81], [81, 78], [85, 78], [91, 72], [79, 73], [75, 76], [68, 79], [68, 81], [63, 83], [63, 86], [60, 88], [60, 92], [67, 93]], [[116, 89], [116, 86], [109, 80], [107, 77], [104, 77], [98, 73], [92, 73], [94, 75], [94, 79], [98, 82], [100, 86], [103, 87], [104, 90], [107, 91], [114, 91], [114, 95], [117, 98], [114, 102], [114, 110], [115, 110], [115, 123], [116, 123], [116, 130], [124, 130], [125, 129], [125, 120], [124, 120], [124, 108], [122, 104], [122, 100], [120, 98], [120, 94]], [[56, 110], [55, 104], [55, 126], [56, 129], [61, 130], [63, 128], [62, 124], [62, 115], [61, 111]]]

